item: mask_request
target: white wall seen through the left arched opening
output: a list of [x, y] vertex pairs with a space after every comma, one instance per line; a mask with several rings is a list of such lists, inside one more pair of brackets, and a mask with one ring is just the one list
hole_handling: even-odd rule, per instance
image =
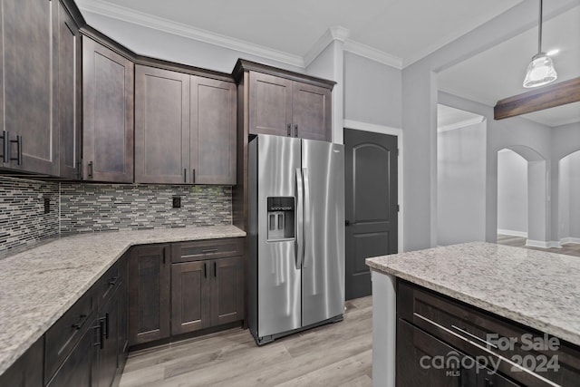
[[498, 232], [527, 237], [527, 160], [498, 152]]

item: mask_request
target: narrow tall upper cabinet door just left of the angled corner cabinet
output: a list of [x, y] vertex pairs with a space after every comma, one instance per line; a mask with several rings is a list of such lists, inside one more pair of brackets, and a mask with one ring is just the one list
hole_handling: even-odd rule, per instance
[[58, 131], [60, 134], [60, 176], [81, 179], [81, 44], [79, 28], [60, 2], [56, 34]]

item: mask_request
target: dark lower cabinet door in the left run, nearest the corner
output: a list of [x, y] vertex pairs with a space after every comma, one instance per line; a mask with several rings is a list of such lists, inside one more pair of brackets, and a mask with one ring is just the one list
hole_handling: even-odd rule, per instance
[[[119, 287], [99, 311], [102, 319], [102, 348], [93, 387], [110, 387], [119, 362]], [[96, 384], [96, 385], [95, 385]]]

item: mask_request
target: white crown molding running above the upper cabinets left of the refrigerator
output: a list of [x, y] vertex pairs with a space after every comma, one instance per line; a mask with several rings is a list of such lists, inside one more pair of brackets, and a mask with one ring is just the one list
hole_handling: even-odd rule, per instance
[[304, 58], [299, 55], [284, 53], [259, 44], [250, 44], [229, 36], [215, 34], [188, 24], [181, 24], [162, 17], [141, 13], [120, 5], [111, 5], [100, 0], [76, 0], [76, 3], [83, 13], [102, 15], [164, 33], [175, 34], [241, 53], [249, 53], [272, 61], [290, 64], [295, 67], [305, 67]]

